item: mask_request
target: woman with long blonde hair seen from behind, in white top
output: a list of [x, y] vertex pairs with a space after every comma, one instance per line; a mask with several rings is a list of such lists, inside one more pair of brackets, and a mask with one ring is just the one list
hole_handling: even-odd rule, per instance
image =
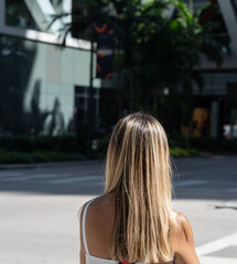
[[112, 132], [105, 194], [80, 215], [80, 264], [200, 264], [187, 219], [172, 208], [165, 132], [142, 112]]

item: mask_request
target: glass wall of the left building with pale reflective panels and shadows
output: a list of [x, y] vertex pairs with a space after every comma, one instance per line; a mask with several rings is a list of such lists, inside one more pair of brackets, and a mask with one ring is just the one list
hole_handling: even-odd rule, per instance
[[75, 86], [87, 92], [89, 52], [0, 35], [0, 134], [74, 133]]

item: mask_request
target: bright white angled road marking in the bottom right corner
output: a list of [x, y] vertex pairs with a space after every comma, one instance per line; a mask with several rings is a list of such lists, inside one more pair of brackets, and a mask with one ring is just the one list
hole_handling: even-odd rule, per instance
[[202, 264], [236, 264], [237, 258], [206, 256], [207, 254], [215, 253], [216, 251], [220, 251], [233, 245], [237, 246], [237, 233], [201, 245], [196, 248], [196, 253]]

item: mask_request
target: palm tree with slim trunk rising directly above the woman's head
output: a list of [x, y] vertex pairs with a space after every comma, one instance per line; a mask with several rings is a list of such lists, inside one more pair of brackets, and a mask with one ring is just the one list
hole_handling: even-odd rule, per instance
[[[140, 53], [139, 46], [142, 42], [147, 42], [152, 29], [161, 29], [162, 12], [168, 4], [166, 0], [154, 0], [152, 6], [143, 3], [142, 0], [90, 0], [78, 6], [71, 14], [55, 15], [52, 23], [64, 15], [72, 15], [72, 23], [65, 24], [63, 29], [63, 45], [65, 45], [66, 35], [71, 31], [75, 37], [91, 41], [91, 28], [95, 24], [108, 23], [114, 28], [117, 50], [115, 67], [118, 72], [122, 68], [123, 74], [128, 77], [129, 110], [133, 111], [134, 67]], [[144, 31], [141, 34], [142, 29]]]

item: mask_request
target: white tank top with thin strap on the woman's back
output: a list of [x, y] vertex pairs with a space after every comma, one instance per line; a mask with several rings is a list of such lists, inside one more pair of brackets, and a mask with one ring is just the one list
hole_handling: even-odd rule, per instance
[[[86, 240], [86, 211], [87, 211], [87, 209], [88, 209], [88, 207], [89, 207], [89, 205], [93, 200], [87, 202], [87, 205], [85, 206], [85, 209], [84, 209], [84, 212], [83, 212], [83, 222], [82, 222], [83, 243], [84, 243], [84, 248], [85, 248], [85, 251], [86, 251], [86, 264], [118, 264], [119, 261], [101, 258], [101, 257], [93, 256], [93, 255], [89, 254], [89, 249], [88, 249], [87, 240]], [[136, 263], [137, 264], [142, 264], [142, 263], [139, 263], [139, 262], [136, 262]], [[168, 263], [168, 264], [174, 264], [174, 263], [171, 262], [171, 263]]]

